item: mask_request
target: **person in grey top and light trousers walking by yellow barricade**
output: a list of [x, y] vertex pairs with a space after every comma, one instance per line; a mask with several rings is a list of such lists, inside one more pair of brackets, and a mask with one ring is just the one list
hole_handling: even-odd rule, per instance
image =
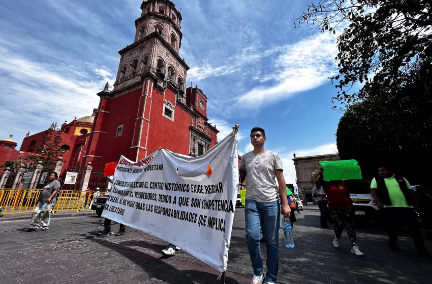
[[[33, 210], [32, 221], [30, 221], [30, 228], [27, 229], [27, 232], [48, 230], [51, 209], [57, 200], [57, 191], [61, 187], [57, 179], [58, 174], [56, 172], [53, 171], [49, 174], [49, 183], [44, 186], [39, 199], [35, 202], [36, 207]], [[48, 205], [45, 210], [41, 212], [41, 207], [45, 203], [48, 203]]]

